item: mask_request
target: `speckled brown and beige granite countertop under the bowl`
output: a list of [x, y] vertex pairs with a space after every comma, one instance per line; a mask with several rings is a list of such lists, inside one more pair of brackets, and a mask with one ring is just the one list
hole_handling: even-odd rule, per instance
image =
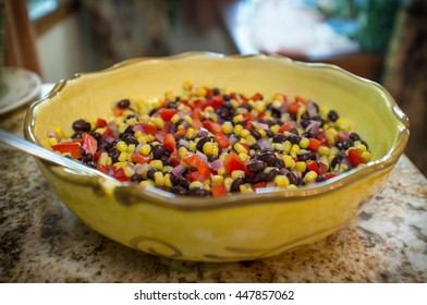
[[[22, 135], [25, 108], [0, 117]], [[242, 263], [137, 252], [83, 224], [33, 157], [0, 144], [0, 282], [427, 282], [427, 180], [402, 156], [362, 215], [329, 237]]]

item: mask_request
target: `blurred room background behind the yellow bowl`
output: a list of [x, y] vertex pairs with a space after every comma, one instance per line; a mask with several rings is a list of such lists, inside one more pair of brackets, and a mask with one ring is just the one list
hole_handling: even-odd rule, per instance
[[427, 175], [426, 0], [0, 0], [0, 4], [4, 64], [34, 71], [45, 83], [133, 57], [185, 51], [280, 53], [337, 64], [392, 94], [411, 120], [405, 154]]

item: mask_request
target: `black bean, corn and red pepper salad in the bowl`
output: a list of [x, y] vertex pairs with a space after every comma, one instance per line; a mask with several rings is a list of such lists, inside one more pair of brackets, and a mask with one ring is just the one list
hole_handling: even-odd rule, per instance
[[315, 101], [244, 95], [184, 82], [180, 96], [122, 99], [111, 118], [77, 119], [73, 134], [48, 133], [56, 151], [119, 181], [178, 195], [223, 196], [297, 187], [370, 160], [351, 123]]

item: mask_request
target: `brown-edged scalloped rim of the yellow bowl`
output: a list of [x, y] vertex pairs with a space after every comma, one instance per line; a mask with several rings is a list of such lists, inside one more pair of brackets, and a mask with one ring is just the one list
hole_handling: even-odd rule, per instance
[[[399, 135], [395, 145], [382, 158], [374, 161], [367, 162], [365, 166], [358, 167], [353, 169], [352, 171], [342, 173], [335, 178], [327, 180], [325, 182], [320, 182], [314, 185], [306, 185], [300, 186], [295, 190], [286, 190], [281, 187], [265, 187], [258, 188], [254, 193], [244, 194], [233, 194], [231, 196], [220, 196], [220, 197], [209, 197], [209, 199], [204, 200], [200, 203], [199, 197], [191, 197], [191, 196], [176, 196], [170, 192], [162, 191], [160, 188], [146, 186], [142, 187], [135, 184], [126, 183], [126, 182], [117, 182], [113, 187], [121, 187], [123, 191], [129, 191], [130, 194], [135, 196], [141, 202], [147, 203], [147, 200], [151, 204], [163, 205], [167, 207], [172, 208], [180, 208], [180, 209], [190, 209], [190, 210], [199, 210], [199, 209], [207, 209], [207, 208], [230, 208], [235, 207], [236, 205], [251, 205], [251, 204], [259, 204], [265, 200], [268, 202], [277, 202], [280, 204], [286, 204], [295, 200], [306, 199], [307, 196], [318, 196], [325, 195], [329, 192], [333, 192], [337, 188], [340, 188], [344, 185], [352, 184], [358, 181], [362, 178], [365, 178], [374, 172], [387, 170], [392, 168], [399, 160], [400, 156], [403, 154], [406, 143], [408, 141], [408, 126], [410, 122], [406, 114], [399, 108], [398, 103], [393, 99], [393, 97], [378, 83], [366, 80], [364, 77], [357, 76], [351, 72], [347, 72], [337, 65], [329, 64], [329, 63], [307, 63], [295, 61], [290, 58], [278, 56], [278, 54], [237, 54], [237, 56], [228, 56], [215, 52], [185, 52], [176, 56], [169, 56], [169, 57], [144, 57], [144, 58], [133, 58], [122, 62], [119, 62], [110, 68], [107, 68], [101, 71], [96, 72], [85, 72], [85, 73], [76, 73], [74, 77], [70, 80], [61, 80], [59, 81], [51, 91], [46, 95], [42, 99], [39, 99], [33, 102], [29, 106], [26, 119], [25, 119], [25, 136], [30, 139], [32, 142], [40, 145], [35, 137], [33, 132], [34, 126], [34, 119], [35, 119], [35, 111], [38, 105], [42, 102], [48, 102], [50, 98], [54, 95], [60, 93], [62, 88], [66, 86], [68, 82], [75, 81], [81, 77], [85, 77], [85, 75], [94, 75], [94, 74], [103, 74], [108, 73], [111, 70], [118, 70], [123, 66], [139, 63], [143, 61], [168, 61], [168, 60], [180, 60], [187, 57], [204, 57], [204, 58], [229, 58], [235, 60], [244, 60], [247, 58], [258, 58], [258, 59], [268, 59], [268, 58], [276, 58], [280, 60], [288, 61], [288, 63], [293, 65], [302, 65], [312, 69], [330, 69], [339, 71], [345, 77], [352, 77], [357, 80], [358, 82], [363, 82], [365, 84], [369, 84], [370, 86], [376, 87], [385, 95], [385, 101], [390, 103], [391, 111], [393, 112], [394, 117], [401, 123], [399, 126]], [[58, 167], [61, 168], [61, 167]], [[70, 173], [71, 174], [71, 173]], [[102, 179], [101, 175], [94, 179]], [[138, 200], [136, 200], [138, 202]]]

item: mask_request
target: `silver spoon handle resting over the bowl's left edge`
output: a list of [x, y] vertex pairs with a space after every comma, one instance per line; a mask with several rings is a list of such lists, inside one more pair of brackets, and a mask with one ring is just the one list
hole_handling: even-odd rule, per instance
[[11, 134], [5, 131], [0, 130], [0, 142], [3, 142], [4, 144], [8, 144], [12, 147], [15, 147], [22, 151], [25, 151], [29, 155], [33, 155], [37, 158], [40, 158], [42, 160], [49, 161], [51, 163], [62, 166], [64, 168], [85, 173], [88, 175], [97, 175], [97, 176], [102, 176], [105, 180], [108, 180], [110, 182], [113, 182], [114, 184], [120, 185], [120, 181], [115, 180], [114, 178], [105, 174], [96, 169], [86, 167], [77, 161], [74, 161], [72, 159], [65, 158], [57, 152], [53, 152], [52, 150], [46, 149], [41, 146], [38, 146], [29, 141], [26, 141], [22, 137], [19, 137], [14, 134]]

